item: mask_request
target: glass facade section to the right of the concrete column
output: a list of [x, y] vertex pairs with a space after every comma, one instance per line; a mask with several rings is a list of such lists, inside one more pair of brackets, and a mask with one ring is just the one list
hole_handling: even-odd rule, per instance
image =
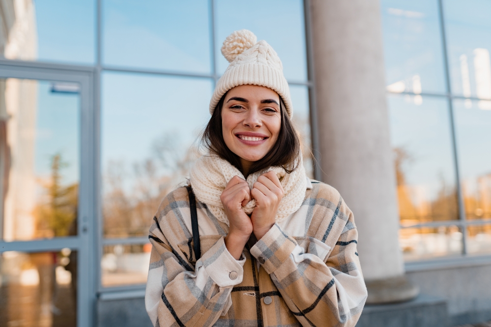
[[491, 4], [381, 4], [404, 257], [489, 255]]

